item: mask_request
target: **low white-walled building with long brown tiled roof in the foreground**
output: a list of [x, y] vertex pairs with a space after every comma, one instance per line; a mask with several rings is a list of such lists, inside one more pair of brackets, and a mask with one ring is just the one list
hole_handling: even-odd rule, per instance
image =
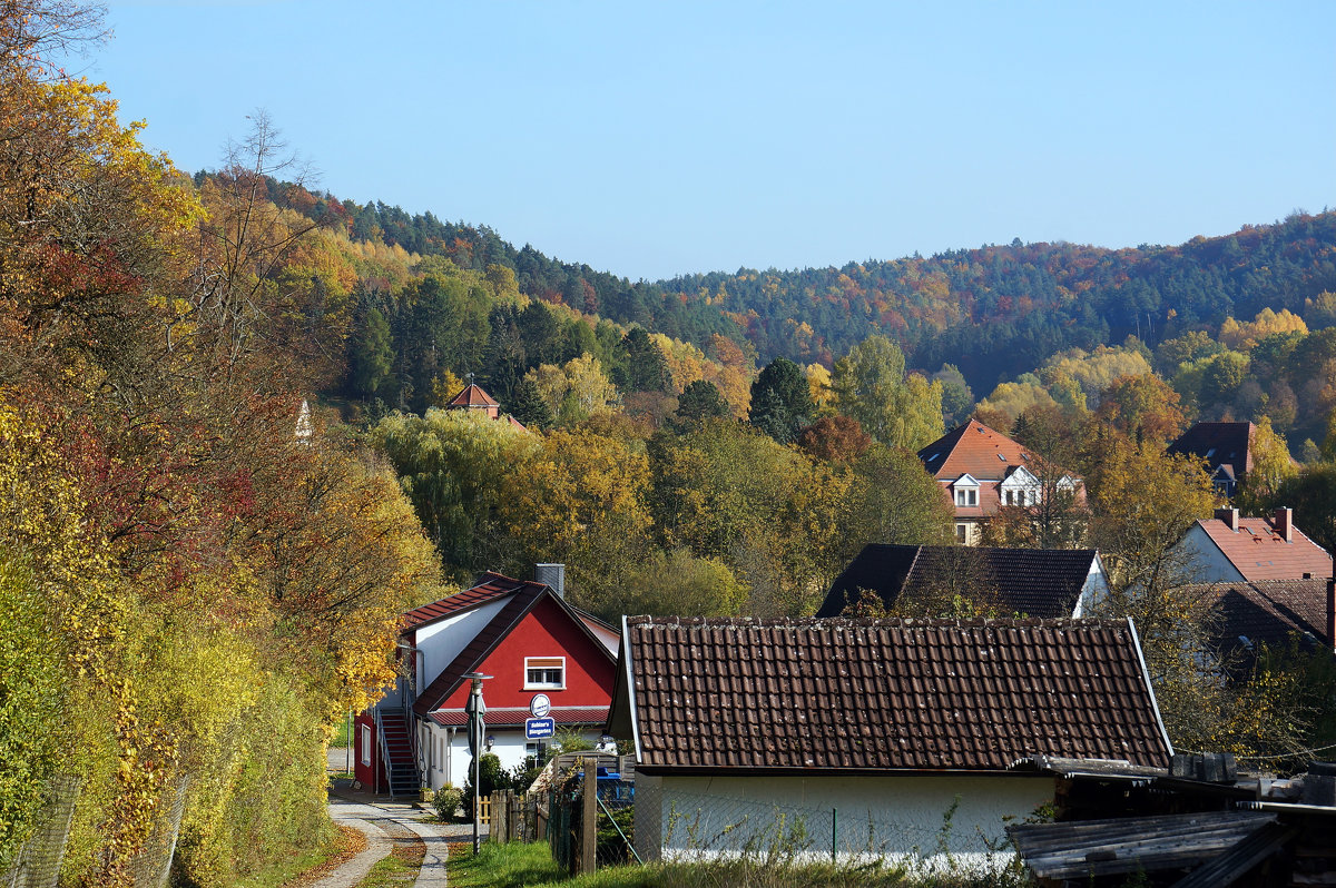
[[1021, 760], [1173, 754], [1130, 621], [632, 617], [609, 732], [647, 860], [999, 865], [1054, 796]]

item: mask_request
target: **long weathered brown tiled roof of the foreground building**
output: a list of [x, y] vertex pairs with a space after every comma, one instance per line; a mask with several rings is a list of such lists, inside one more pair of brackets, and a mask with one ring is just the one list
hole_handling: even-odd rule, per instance
[[631, 709], [648, 773], [1164, 766], [1173, 752], [1126, 622], [633, 617], [623, 657], [609, 718], [624, 730]]

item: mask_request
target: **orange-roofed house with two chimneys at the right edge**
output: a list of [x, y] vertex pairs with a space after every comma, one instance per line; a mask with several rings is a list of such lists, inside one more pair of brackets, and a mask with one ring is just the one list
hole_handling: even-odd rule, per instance
[[1332, 576], [1332, 557], [1295, 526], [1291, 509], [1272, 518], [1240, 518], [1237, 509], [1217, 509], [1196, 522], [1178, 542], [1196, 582], [1316, 580]]

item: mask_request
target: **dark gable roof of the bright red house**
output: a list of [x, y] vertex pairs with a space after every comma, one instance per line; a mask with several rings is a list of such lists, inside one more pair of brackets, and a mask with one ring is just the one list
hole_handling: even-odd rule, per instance
[[[587, 622], [587, 620], [592, 620], [592, 617], [572, 608], [546, 584], [528, 580], [512, 580], [510, 577], [504, 577], [497, 573], [486, 573], [484, 574], [484, 578], [485, 582], [469, 589], [468, 592], [489, 586], [497, 590], [497, 593], [490, 597], [476, 600], [473, 605], [462, 605], [453, 613], [460, 613], [464, 609], [482, 604], [484, 601], [498, 601], [505, 596], [509, 596], [509, 598], [506, 598], [501, 610], [498, 610], [485, 626], [478, 629], [478, 632], [473, 636], [473, 640], [464, 646], [464, 650], [461, 650], [453, 661], [450, 661], [450, 665], [442, 669], [441, 673], [422, 689], [418, 694], [417, 702], [413, 704], [413, 712], [417, 714], [424, 717], [430, 714], [441, 705], [442, 701], [453, 694], [460, 685], [464, 684], [464, 676], [474, 672], [480, 665], [482, 665], [482, 661], [485, 661], [488, 656], [496, 650], [496, 646], [501, 644], [501, 641], [510, 634], [516, 626], [520, 625], [520, 621], [524, 620], [544, 597], [550, 597], [556, 601], [566, 616], [570, 617], [570, 621], [578, 626], [591, 641], [595, 642], [595, 646], [607, 654], [608, 660], [613, 658], [615, 653], [603, 644], [603, 640], [599, 638], [593, 628], [591, 628]], [[458, 597], [460, 596], [452, 596], [450, 598], [444, 598], [442, 601], [452, 601]]]

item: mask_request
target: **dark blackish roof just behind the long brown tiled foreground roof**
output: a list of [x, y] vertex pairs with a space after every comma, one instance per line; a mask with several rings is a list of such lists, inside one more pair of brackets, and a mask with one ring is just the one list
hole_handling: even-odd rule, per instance
[[1070, 617], [1090, 568], [1094, 549], [991, 549], [985, 546], [892, 546], [863, 547], [816, 612], [838, 617], [859, 600], [859, 590], [876, 593], [887, 608], [900, 596], [965, 581], [966, 596], [991, 605], [1002, 614], [1057, 618]]

